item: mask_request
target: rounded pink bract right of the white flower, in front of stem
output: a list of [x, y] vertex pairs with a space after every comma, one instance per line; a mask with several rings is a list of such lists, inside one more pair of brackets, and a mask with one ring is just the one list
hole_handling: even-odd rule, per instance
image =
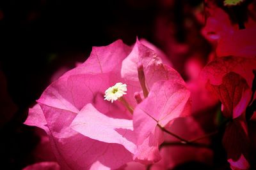
[[[172, 80], [155, 83], [148, 97], [134, 110], [134, 132], [138, 138], [137, 145], [144, 145], [148, 138], [150, 143], [161, 144], [163, 138], [154, 139], [162, 127], [172, 123], [177, 117], [184, 117], [190, 111], [190, 92], [184, 85]], [[150, 146], [150, 145], [149, 145]]]

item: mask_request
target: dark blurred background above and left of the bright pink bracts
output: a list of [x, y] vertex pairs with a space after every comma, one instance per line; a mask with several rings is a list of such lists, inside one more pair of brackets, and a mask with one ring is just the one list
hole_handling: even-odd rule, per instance
[[[35, 163], [40, 138], [23, 125], [28, 108], [49, 83], [84, 62], [92, 46], [147, 39], [171, 60], [185, 80], [188, 59], [205, 64], [211, 45], [200, 0], [3, 0], [0, 1], [1, 169]], [[224, 159], [225, 160], [225, 159]]]

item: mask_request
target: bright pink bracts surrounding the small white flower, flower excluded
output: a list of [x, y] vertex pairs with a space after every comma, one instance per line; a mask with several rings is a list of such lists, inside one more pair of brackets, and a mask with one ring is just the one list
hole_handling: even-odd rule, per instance
[[[149, 94], [138, 104], [134, 94], [142, 92], [137, 69], [141, 65]], [[134, 108], [133, 116], [122, 103], [104, 100], [105, 90], [118, 82], [127, 84], [123, 97]], [[25, 124], [47, 132], [63, 169], [116, 169], [133, 160], [147, 164], [160, 159], [163, 132], [157, 124], [164, 127], [188, 115], [189, 95], [179, 73], [154, 51], [140, 41], [131, 48], [119, 40], [93, 47], [86, 62], [49, 85]], [[148, 106], [157, 110], [140, 115]]]

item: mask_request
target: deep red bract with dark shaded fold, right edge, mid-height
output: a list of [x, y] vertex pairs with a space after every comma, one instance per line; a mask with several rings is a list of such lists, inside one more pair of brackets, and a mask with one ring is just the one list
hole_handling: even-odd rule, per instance
[[255, 59], [220, 57], [202, 71], [202, 78], [220, 99], [226, 117], [237, 118], [246, 110], [252, 96], [253, 69]]

